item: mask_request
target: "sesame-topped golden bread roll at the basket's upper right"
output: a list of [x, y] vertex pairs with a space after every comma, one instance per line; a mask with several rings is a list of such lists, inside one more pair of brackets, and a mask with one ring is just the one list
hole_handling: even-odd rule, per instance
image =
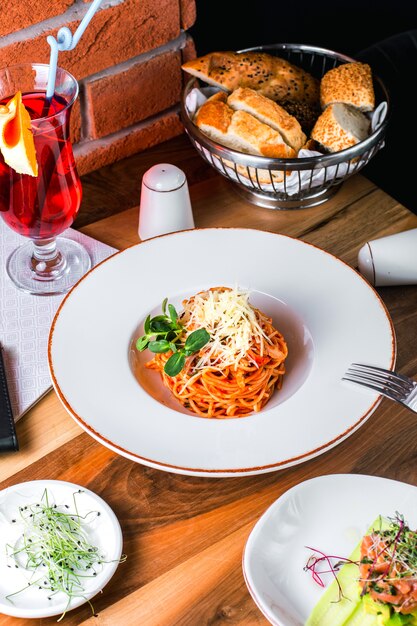
[[350, 104], [360, 111], [373, 111], [375, 93], [367, 63], [343, 63], [324, 74], [320, 82], [322, 108], [335, 102]]

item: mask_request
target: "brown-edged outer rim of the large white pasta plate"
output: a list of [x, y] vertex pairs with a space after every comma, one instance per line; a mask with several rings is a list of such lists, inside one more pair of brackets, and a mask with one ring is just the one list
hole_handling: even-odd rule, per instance
[[[257, 230], [257, 229], [245, 228], [245, 227], [242, 227], [242, 228], [240, 228], [240, 227], [238, 227], [238, 228], [236, 228], [236, 227], [210, 227], [210, 228], [188, 229], [188, 230], [185, 230], [185, 231], [181, 231], [181, 233], [187, 233], [187, 232], [208, 232], [208, 231], [212, 231], [212, 232], [216, 232], [216, 231], [229, 231], [229, 232], [246, 231], [246, 232], [252, 232], [252, 233], [255, 233], [255, 234], [265, 233], [265, 234], [273, 235], [273, 236], [276, 236], [278, 238], [291, 240], [291, 241], [297, 242], [299, 244], [302, 244], [303, 246], [315, 249], [315, 250], [319, 251], [320, 253], [323, 253], [324, 255], [327, 255], [329, 258], [333, 259], [334, 261], [339, 263], [341, 266], [347, 268], [350, 272], [352, 272], [352, 274], [356, 275], [356, 277], [357, 277], [357, 279], [359, 281], [362, 281], [363, 284], [366, 285], [367, 289], [369, 290], [369, 292], [371, 292], [373, 294], [373, 296], [375, 297], [375, 300], [378, 302], [378, 304], [380, 305], [382, 311], [385, 314], [386, 321], [388, 322], [388, 325], [389, 325], [390, 336], [391, 336], [391, 358], [390, 358], [390, 364], [388, 365], [388, 367], [389, 368], [393, 368], [394, 367], [395, 362], [396, 362], [397, 342], [396, 342], [394, 325], [393, 325], [392, 319], [390, 317], [390, 314], [388, 312], [388, 309], [387, 309], [385, 303], [383, 302], [382, 298], [380, 297], [380, 295], [376, 291], [376, 289], [372, 285], [370, 285], [368, 283], [368, 281], [362, 275], [360, 275], [359, 272], [354, 270], [348, 263], [346, 263], [342, 259], [338, 258], [336, 255], [334, 255], [334, 254], [332, 254], [330, 252], [327, 252], [326, 250], [324, 250], [323, 248], [320, 248], [319, 246], [317, 246], [315, 244], [312, 244], [312, 243], [309, 243], [309, 242], [305, 242], [305, 241], [303, 241], [301, 239], [297, 239], [296, 237], [293, 237], [293, 236], [290, 236], [290, 235], [284, 235], [284, 234], [276, 233], [276, 232], [270, 231], [270, 230]], [[274, 462], [274, 463], [263, 464], [263, 465], [256, 465], [256, 466], [250, 466], [250, 467], [216, 467], [216, 468], [195, 467], [195, 466], [188, 467], [188, 466], [184, 466], [184, 465], [177, 465], [177, 464], [174, 464], [174, 463], [168, 463], [168, 462], [165, 462], [165, 461], [159, 461], [157, 459], [149, 458], [147, 456], [141, 455], [141, 454], [139, 454], [137, 452], [133, 452], [132, 450], [128, 450], [128, 449], [124, 448], [123, 446], [115, 443], [114, 441], [111, 441], [108, 438], [106, 438], [103, 434], [101, 434], [100, 432], [95, 430], [82, 416], [77, 414], [77, 412], [72, 407], [71, 402], [65, 396], [65, 394], [63, 393], [63, 391], [62, 391], [62, 389], [60, 387], [59, 381], [58, 381], [58, 379], [57, 379], [57, 377], [55, 375], [55, 372], [54, 372], [54, 365], [53, 365], [53, 358], [52, 358], [52, 344], [53, 344], [53, 339], [54, 339], [54, 332], [55, 332], [56, 324], [57, 324], [57, 321], [59, 319], [60, 313], [63, 310], [63, 308], [65, 307], [65, 304], [67, 303], [68, 299], [73, 296], [74, 292], [76, 291], [78, 286], [83, 283], [83, 281], [88, 279], [88, 277], [93, 272], [98, 270], [101, 266], [105, 265], [106, 263], [111, 263], [112, 259], [114, 259], [115, 257], [117, 257], [119, 255], [123, 255], [124, 253], [129, 252], [130, 250], [132, 250], [134, 248], [139, 248], [143, 244], [147, 244], [148, 242], [152, 242], [152, 240], [163, 239], [163, 238], [166, 238], [166, 237], [172, 237], [172, 236], [176, 236], [176, 235], [181, 234], [181, 233], [174, 232], [174, 233], [168, 233], [168, 234], [164, 234], [164, 235], [159, 235], [157, 237], [153, 237], [150, 240], [140, 241], [139, 243], [132, 244], [132, 245], [128, 246], [127, 248], [123, 249], [123, 250], [119, 250], [118, 252], [114, 253], [110, 257], [108, 257], [108, 258], [104, 259], [103, 261], [101, 261], [95, 267], [91, 268], [78, 281], [78, 283], [76, 283], [76, 285], [74, 285], [74, 287], [66, 294], [66, 296], [64, 297], [64, 299], [60, 303], [60, 305], [59, 305], [59, 307], [57, 309], [57, 312], [56, 312], [56, 314], [54, 316], [54, 319], [52, 321], [50, 334], [49, 334], [49, 338], [48, 338], [48, 365], [49, 365], [50, 375], [51, 375], [52, 384], [53, 384], [53, 387], [55, 389], [55, 392], [57, 393], [57, 395], [58, 395], [60, 401], [62, 402], [63, 406], [66, 408], [68, 413], [73, 417], [73, 419], [87, 433], [89, 433], [94, 439], [96, 439], [98, 442], [104, 444], [105, 446], [107, 446], [109, 449], [113, 450], [117, 454], [121, 454], [122, 456], [125, 456], [126, 458], [129, 458], [129, 459], [131, 459], [133, 461], [143, 463], [144, 465], [147, 465], [149, 467], [153, 467], [155, 469], [162, 469], [162, 470], [165, 470], [165, 471], [172, 471], [172, 472], [179, 473], [179, 474], [194, 475], [194, 476], [205, 475], [205, 476], [212, 476], [212, 477], [256, 475], [256, 474], [260, 474], [260, 473], [265, 473], [265, 472], [271, 472], [271, 471], [279, 470], [279, 469], [286, 468], [286, 467], [291, 467], [293, 465], [296, 465], [296, 464], [302, 463], [304, 461], [307, 461], [309, 459], [312, 459], [312, 458], [314, 458], [314, 457], [316, 457], [316, 456], [326, 452], [327, 450], [330, 450], [331, 448], [333, 448], [334, 446], [336, 446], [337, 444], [342, 442], [344, 439], [349, 437], [353, 432], [355, 432], [372, 415], [372, 413], [377, 409], [378, 405], [380, 404], [380, 402], [383, 399], [383, 397], [381, 395], [375, 394], [375, 396], [376, 396], [375, 399], [370, 401], [369, 405], [367, 406], [366, 411], [364, 411], [363, 414], [361, 414], [358, 417], [358, 419], [353, 424], [351, 424], [349, 426], [349, 428], [347, 428], [343, 432], [340, 432], [336, 437], [332, 438], [331, 440], [324, 442], [322, 445], [320, 445], [320, 446], [318, 446], [318, 447], [316, 447], [314, 449], [305, 451], [301, 455], [297, 455], [297, 456], [294, 456], [294, 457], [282, 459], [282, 460], [279, 460], [279, 461]]]

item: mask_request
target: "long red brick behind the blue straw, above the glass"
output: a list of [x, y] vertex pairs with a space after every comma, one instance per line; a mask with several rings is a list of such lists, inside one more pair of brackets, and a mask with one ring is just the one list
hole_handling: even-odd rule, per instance
[[[84, 7], [83, 7], [84, 8]], [[85, 7], [86, 9], [86, 7]], [[79, 21], [67, 25], [74, 33]], [[0, 66], [14, 63], [48, 63], [48, 35], [40, 32], [31, 40], [0, 47]], [[58, 62], [81, 80], [134, 56], [153, 50], [180, 34], [178, 0], [125, 0], [123, 4], [98, 11], [74, 50], [60, 52]]]

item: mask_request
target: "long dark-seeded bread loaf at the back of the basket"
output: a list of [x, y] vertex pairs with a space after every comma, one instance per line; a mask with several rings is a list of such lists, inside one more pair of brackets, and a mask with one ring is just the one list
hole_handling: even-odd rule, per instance
[[266, 52], [211, 52], [187, 61], [182, 69], [229, 92], [250, 87], [275, 101], [315, 103], [319, 100], [320, 84], [316, 78]]

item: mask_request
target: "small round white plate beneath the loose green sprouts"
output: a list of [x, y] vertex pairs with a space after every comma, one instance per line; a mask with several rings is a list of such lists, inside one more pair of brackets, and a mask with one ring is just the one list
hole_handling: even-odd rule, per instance
[[[27, 507], [22, 513], [28, 509], [37, 512], [45, 503], [56, 505], [57, 511], [79, 515], [87, 545], [98, 548], [103, 557], [96, 573], [82, 579], [80, 595], [74, 592], [70, 599], [63, 591], [51, 593], [50, 588], [42, 588], [45, 566], [27, 568], [27, 553], [21, 550], [23, 531], [28, 526], [20, 509]], [[34, 480], [0, 491], [0, 537], [0, 613], [13, 617], [62, 615], [90, 601], [109, 582], [122, 556], [122, 531], [109, 505], [89, 489], [60, 480]], [[10, 553], [15, 550], [20, 552], [13, 558]]]

